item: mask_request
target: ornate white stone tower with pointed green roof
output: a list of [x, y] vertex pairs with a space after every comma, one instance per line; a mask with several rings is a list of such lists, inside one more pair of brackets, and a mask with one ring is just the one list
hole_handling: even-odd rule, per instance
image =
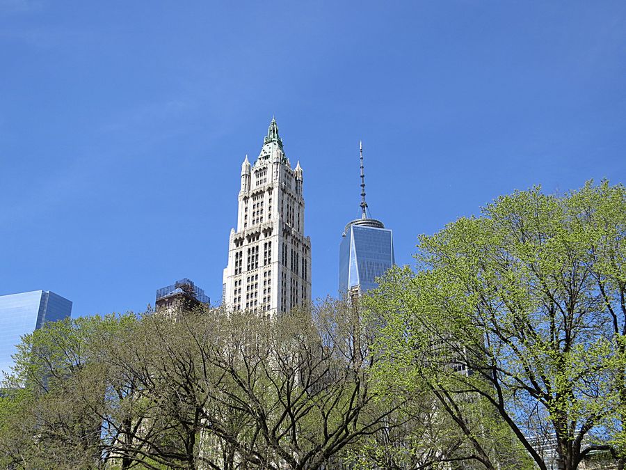
[[223, 304], [264, 315], [311, 301], [311, 240], [304, 230], [303, 169], [284, 154], [275, 119], [254, 164], [241, 165], [237, 228], [230, 232]]

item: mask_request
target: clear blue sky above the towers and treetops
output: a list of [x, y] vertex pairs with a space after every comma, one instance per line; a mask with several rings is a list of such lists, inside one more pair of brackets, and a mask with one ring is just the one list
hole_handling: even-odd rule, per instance
[[626, 2], [0, 0], [0, 295], [73, 316], [221, 294], [243, 157], [305, 171], [314, 297], [358, 217], [419, 233], [540, 184], [624, 182]]

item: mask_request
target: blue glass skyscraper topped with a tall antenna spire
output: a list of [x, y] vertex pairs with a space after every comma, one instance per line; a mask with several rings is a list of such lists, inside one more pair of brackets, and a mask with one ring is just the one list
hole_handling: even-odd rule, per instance
[[392, 230], [367, 217], [363, 146], [361, 161], [361, 218], [346, 225], [339, 245], [339, 293], [359, 294], [376, 288], [376, 278], [395, 264]]

